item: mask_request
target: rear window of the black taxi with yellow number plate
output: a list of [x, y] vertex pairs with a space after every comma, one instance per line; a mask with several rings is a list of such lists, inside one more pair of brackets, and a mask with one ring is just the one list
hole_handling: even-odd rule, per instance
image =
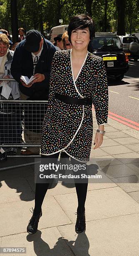
[[97, 36], [92, 41], [93, 49], [98, 48], [118, 48], [121, 49], [121, 41], [119, 37], [113, 36]]

